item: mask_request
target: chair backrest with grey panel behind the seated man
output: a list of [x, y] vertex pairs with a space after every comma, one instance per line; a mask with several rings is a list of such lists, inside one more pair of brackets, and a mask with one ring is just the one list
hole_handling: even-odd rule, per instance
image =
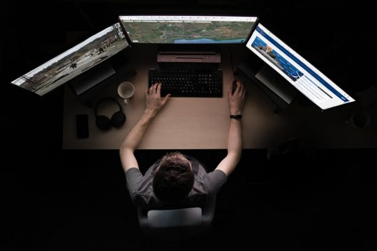
[[[179, 208], [145, 211], [138, 208], [140, 228], [149, 236], [166, 237], [170, 239], [202, 233], [209, 229], [216, 208], [216, 197], [203, 208]], [[195, 231], [192, 231], [195, 229]], [[200, 231], [203, 230], [203, 231]], [[166, 235], [169, 233], [169, 235]], [[172, 235], [174, 234], [174, 236]]]

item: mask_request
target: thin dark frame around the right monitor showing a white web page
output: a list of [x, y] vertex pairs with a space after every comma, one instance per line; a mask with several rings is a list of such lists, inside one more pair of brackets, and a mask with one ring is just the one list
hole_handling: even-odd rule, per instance
[[[258, 24], [256, 24], [256, 26], [254, 27], [254, 29], [253, 29], [253, 32], [254, 31], [256, 31], [256, 28], [258, 27], [258, 25], [260, 24], [260, 22], [258, 22]], [[263, 25], [263, 24], [261, 24], [261, 25]], [[264, 26], [264, 25], [263, 25]], [[278, 37], [280, 40], [281, 40], [281, 38], [279, 37], [279, 36], [277, 36], [276, 35], [276, 33], [275, 32], [273, 32], [271, 29], [268, 29], [271, 33], [273, 33], [274, 34], [274, 36], [276, 36], [276, 37]], [[245, 46], [247, 45], [247, 43], [249, 43], [249, 40], [251, 39], [251, 35], [253, 34], [253, 32], [250, 34], [250, 36], [249, 36], [249, 38], [248, 38], [248, 40], [246, 40], [246, 43], [245, 43]], [[283, 43], [285, 43], [283, 40], [281, 40], [281, 42], [283, 42]], [[286, 43], [285, 43], [286, 44]], [[290, 47], [290, 49], [291, 50], [293, 50], [294, 52], [296, 52], [297, 54], [299, 54], [300, 56], [301, 56], [301, 54], [299, 53], [299, 52], [297, 52], [297, 50], [295, 50], [295, 48], [293, 48], [293, 47], [291, 47], [291, 46], [289, 46]], [[269, 68], [270, 68], [270, 70], [274, 70], [276, 73], [278, 73], [279, 74], [279, 77], [281, 77], [281, 79], [284, 79], [286, 82], [288, 82], [290, 85], [292, 85], [292, 86], [294, 86], [292, 83], [290, 83], [287, 79], [285, 79], [282, 75], [281, 75], [281, 73], [279, 72], [279, 71], [277, 71], [277, 70], [275, 70], [274, 68], [272, 68], [272, 66], [270, 66], [267, 62], [265, 62], [262, 58], [260, 58], [260, 56], [258, 56], [255, 52], [253, 52], [252, 50], [250, 50], [250, 48], [249, 47], [246, 47], [248, 50], [249, 50], [249, 52], [253, 55], [253, 56], [255, 56], [256, 58], [258, 58], [258, 60], [260, 60], [261, 62], [263, 62], [264, 63], [264, 65], [266, 65], [266, 66], [268, 66]], [[306, 60], [306, 59], [305, 59]], [[307, 60], [306, 60], [307, 61]], [[309, 61], [308, 61], [309, 62]], [[315, 65], [313, 65], [313, 63], [311, 63], [311, 62], [309, 62], [313, 67], [315, 67], [318, 71], [320, 71], [320, 73], [322, 73], [323, 75], [325, 75], [325, 73], [323, 73], [321, 70], [319, 70], [319, 68], [317, 67], [317, 66], [315, 66]], [[325, 75], [326, 77], [327, 77], [327, 75]], [[329, 77], [327, 77], [327, 78], [329, 78]], [[330, 78], [329, 78], [330, 79]], [[331, 79], [330, 79], [331, 80]], [[334, 83], [335, 84], [335, 83]], [[351, 106], [351, 104], [353, 104], [353, 105], [355, 105], [358, 101], [359, 101], [359, 99], [357, 98], [357, 95], [355, 95], [355, 93], [353, 93], [353, 91], [350, 91], [349, 89], [347, 89], [347, 88], [344, 88], [343, 86], [340, 86], [339, 84], [337, 84], [337, 86], [339, 86], [339, 88], [340, 89], [342, 89], [343, 91], [345, 91], [351, 98], [353, 98], [353, 100], [355, 100], [355, 101], [352, 101], [352, 102], [346, 102], [346, 103], [344, 103], [344, 104], [341, 104], [341, 105], [336, 105], [336, 106], [333, 106], [333, 107], [329, 107], [329, 108], [327, 108], [327, 109], [323, 109], [323, 108], [321, 108], [318, 104], [316, 104], [316, 102], [314, 102], [313, 100], [311, 100], [310, 98], [308, 98], [308, 97], [306, 97], [305, 95], [304, 95], [304, 93], [302, 93], [302, 91], [300, 91], [299, 89], [297, 89], [295, 86], [294, 86], [294, 88], [295, 89], [297, 89], [297, 91], [298, 91], [298, 93], [300, 94], [300, 96], [303, 96], [304, 98], [306, 98], [307, 100], [309, 100], [309, 102], [311, 102], [311, 104], [312, 105], [314, 105], [314, 107], [316, 107], [316, 109], [318, 109], [320, 112], [327, 112], [327, 111], [332, 111], [332, 110], [334, 110], [334, 109], [339, 109], [340, 107], [350, 107]]]

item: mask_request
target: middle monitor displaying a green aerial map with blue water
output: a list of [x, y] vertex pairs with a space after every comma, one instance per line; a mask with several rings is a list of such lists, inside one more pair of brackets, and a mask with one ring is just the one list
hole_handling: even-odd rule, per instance
[[258, 17], [121, 15], [128, 42], [149, 44], [246, 43]]

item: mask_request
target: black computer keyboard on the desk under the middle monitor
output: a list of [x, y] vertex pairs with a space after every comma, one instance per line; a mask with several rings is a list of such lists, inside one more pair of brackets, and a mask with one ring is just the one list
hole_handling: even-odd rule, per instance
[[161, 82], [161, 97], [221, 98], [222, 70], [149, 69], [148, 86]]

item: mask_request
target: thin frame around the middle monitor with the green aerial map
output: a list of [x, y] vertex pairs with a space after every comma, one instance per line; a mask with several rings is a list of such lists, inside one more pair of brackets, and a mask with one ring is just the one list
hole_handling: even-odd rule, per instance
[[[191, 17], [191, 16], [196, 16], [196, 17], [256, 17], [256, 22], [254, 22], [253, 24], [253, 27], [251, 27], [250, 31], [249, 31], [249, 34], [246, 36], [244, 42], [242, 43], [134, 43], [130, 36], [128, 36], [128, 33], [126, 31], [126, 28], [124, 27], [124, 24], [123, 22], [121, 21], [121, 17], [123, 16], [158, 16], [158, 15], [161, 15], [161, 16], [181, 16], [181, 17]], [[133, 14], [133, 15], [118, 15], [118, 20], [121, 24], [121, 28], [123, 29], [123, 32], [125, 33], [126, 35], [126, 40], [128, 42], [128, 45], [192, 45], [192, 46], [195, 46], [195, 45], [246, 45], [246, 42], [249, 40], [249, 38], [251, 37], [251, 34], [253, 33], [253, 31], [256, 29], [256, 26], [258, 25], [258, 22], [259, 22], [259, 19], [260, 17], [258, 15], [219, 15], [219, 14], [207, 14], [207, 15], [198, 15], [198, 14], [195, 14], [195, 13], [192, 13], [192, 14], [169, 14], [169, 15], [166, 15], [166, 14], [158, 14], [158, 13], [154, 13], [154, 14]]]

